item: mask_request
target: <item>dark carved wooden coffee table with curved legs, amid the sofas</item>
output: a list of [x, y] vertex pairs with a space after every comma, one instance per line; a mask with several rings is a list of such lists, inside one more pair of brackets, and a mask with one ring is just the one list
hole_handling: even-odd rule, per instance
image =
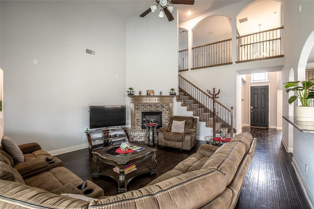
[[[93, 164], [92, 164], [92, 177], [106, 176], [114, 179], [118, 183], [118, 191], [126, 192], [128, 183], [138, 175], [144, 173], [150, 173], [151, 175], [157, 174], [157, 161], [156, 161], [156, 148], [146, 147], [142, 145], [134, 145], [145, 148], [142, 151], [134, 151], [130, 153], [129, 156], [120, 156], [115, 150], [120, 146], [106, 147], [100, 150], [94, 150], [93, 154]], [[150, 159], [150, 166], [144, 167], [140, 162]], [[101, 170], [99, 161], [112, 165], [111, 169]], [[129, 174], [125, 174], [125, 167], [134, 163], [137, 170]], [[119, 174], [114, 172], [112, 169], [118, 167]]]

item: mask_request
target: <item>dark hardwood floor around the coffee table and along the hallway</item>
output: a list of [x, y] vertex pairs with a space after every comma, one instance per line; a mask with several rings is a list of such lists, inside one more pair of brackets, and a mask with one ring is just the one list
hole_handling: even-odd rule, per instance
[[[254, 157], [246, 173], [236, 209], [310, 209], [305, 194], [291, 165], [281, 140], [282, 131], [275, 129], [243, 128], [258, 139]], [[128, 191], [138, 189], [157, 176], [171, 170], [181, 160], [196, 152], [205, 141], [197, 141], [190, 151], [157, 147], [157, 175], [141, 175], [128, 184]], [[143, 144], [143, 143], [142, 143]], [[92, 178], [92, 155], [88, 149], [56, 156], [83, 180], [101, 186], [105, 195], [118, 194], [117, 183], [110, 178]], [[148, 163], [148, 162], [146, 162]]]

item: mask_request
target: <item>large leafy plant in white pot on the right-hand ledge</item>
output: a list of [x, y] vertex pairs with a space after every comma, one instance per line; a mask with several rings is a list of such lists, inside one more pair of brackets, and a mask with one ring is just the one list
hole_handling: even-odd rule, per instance
[[[314, 122], [314, 106], [310, 106], [314, 99], [314, 78], [305, 81], [290, 81], [285, 83], [286, 92], [295, 91], [297, 95], [293, 95], [288, 99], [288, 103], [292, 104], [299, 98], [301, 106], [294, 106], [294, 117], [296, 121]], [[302, 124], [306, 125], [306, 124]]]

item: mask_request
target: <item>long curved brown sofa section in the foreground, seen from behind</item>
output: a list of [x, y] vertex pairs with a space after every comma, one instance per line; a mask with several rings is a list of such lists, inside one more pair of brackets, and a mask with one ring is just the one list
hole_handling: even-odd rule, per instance
[[219, 148], [204, 144], [145, 187], [92, 201], [60, 196], [1, 178], [0, 207], [232, 209], [237, 203], [256, 143], [250, 133], [244, 132]]

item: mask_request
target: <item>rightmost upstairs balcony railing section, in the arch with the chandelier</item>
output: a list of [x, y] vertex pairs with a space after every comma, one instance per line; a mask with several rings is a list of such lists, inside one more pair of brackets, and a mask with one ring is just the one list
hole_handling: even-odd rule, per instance
[[236, 62], [282, 57], [281, 35], [278, 27], [236, 38]]

